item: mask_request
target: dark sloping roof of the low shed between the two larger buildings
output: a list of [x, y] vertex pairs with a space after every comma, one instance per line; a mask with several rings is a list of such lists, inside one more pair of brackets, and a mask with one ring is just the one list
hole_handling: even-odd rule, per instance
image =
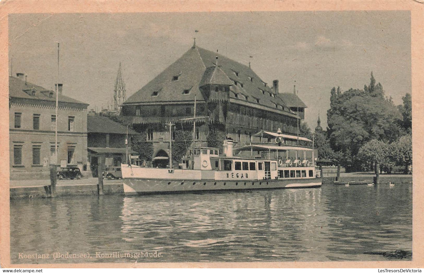
[[[109, 117], [88, 115], [87, 133], [126, 134], [127, 127], [109, 119]], [[128, 129], [128, 134], [137, 134], [137, 132]]]

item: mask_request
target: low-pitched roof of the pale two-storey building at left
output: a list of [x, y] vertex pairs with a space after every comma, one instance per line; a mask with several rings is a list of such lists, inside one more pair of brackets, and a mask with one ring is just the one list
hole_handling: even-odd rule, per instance
[[[36, 91], [34, 95], [30, 95], [32, 89]], [[50, 92], [53, 92], [53, 95], [50, 96]], [[56, 102], [55, 90], [47, 90], [44, 87], [31, 84], [30, 82], [27, 82], [25, 84], [25, 81], [22, 81], [21, 79], [12, 76], [9, 76], [9, 97]], [[58, 96], [58, 100], [62, 103], [81, 104], [82, 106], [85, 106], [85, 108], [88, 106], [88, 103], [83, 103], [79, 100], [64, 96], [60, 93]]]

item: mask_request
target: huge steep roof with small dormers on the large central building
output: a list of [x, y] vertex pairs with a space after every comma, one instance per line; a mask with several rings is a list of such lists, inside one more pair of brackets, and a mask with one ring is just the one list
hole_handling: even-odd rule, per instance
[[[217, 53], [215, 52], [197, 46], [191, 47], [183, 56], [129, 97], [123, 104], [192, 101], [195, 94], [197, 100], [204, 100], [199, 91], [199, 86], [208, 81], [217, 81], [221, 84], [232, 84], [230, 98], [234, 101], [247, 101], [280, 111], [283, 111], [282, 106], [287, 106], [285, 103], [289, 102], [276, 96], [274, 90], [262, 81], [250, 67], [218, 54], [218, 69], [215, 69], [216, 56]], [[216, 78], [214, 78], [214, 72], [218, 72]], [[190, 92], [184, 94], [184, 90], [188, 89], [190, 89]], [[241, 95], [239, 96], [239, 94]], [[296, 100], [301, 102], [297, 96]], [[276, 108], [276, 105], [279, 108]], [[304, 105], [303, 102], [302, 105]], [[306, 106], [299, 105], [299, 107]]]

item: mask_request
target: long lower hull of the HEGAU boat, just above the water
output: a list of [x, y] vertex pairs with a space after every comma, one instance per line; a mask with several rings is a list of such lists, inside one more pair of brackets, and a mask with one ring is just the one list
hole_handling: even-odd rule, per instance
[[322, 178], [274, 179], [274, 180], [194, 180], [124, 178], [125, 195], [144, 195], [181, 192], [243, 191], [249, 189], [309, 188], [321, 187]]

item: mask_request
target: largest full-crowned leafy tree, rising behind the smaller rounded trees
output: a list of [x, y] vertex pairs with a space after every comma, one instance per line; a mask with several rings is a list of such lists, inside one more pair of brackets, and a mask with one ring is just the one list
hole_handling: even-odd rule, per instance
[[354, 164], [360, 148], [371, 139], [392, 142], [399, 137], [402, 116], [384, 98], [382, 85], [375, 84], [372, 73], [364, 90], [349, 89], [337, 95], [333, 88], [331, 94], [327, 111], [329, 141], [333, 150], [343, 153], [345, 162]]

